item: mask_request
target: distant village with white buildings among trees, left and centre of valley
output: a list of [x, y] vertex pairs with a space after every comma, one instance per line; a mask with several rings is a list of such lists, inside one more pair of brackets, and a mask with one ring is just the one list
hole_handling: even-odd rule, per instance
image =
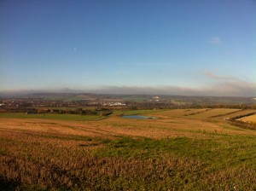
[[[156, 104], [156, 105], [155, 105]], [[160, 96], [152, 96], [146, 101], [114, 101], [113, 99], [80, 99], [73, 101], [46, 100], [42, 98], [25, 99], [0, 99], [0, 113], [20, 112], [20, 113], [72, 113], [77, 108], [90, 108], [99, 110], [121, 109], [121, 108], [147, 108], [161, 107], [170, 104], [170, 101], [160, 101]], [[103, 109], [104, 110], [104, 109]]]

